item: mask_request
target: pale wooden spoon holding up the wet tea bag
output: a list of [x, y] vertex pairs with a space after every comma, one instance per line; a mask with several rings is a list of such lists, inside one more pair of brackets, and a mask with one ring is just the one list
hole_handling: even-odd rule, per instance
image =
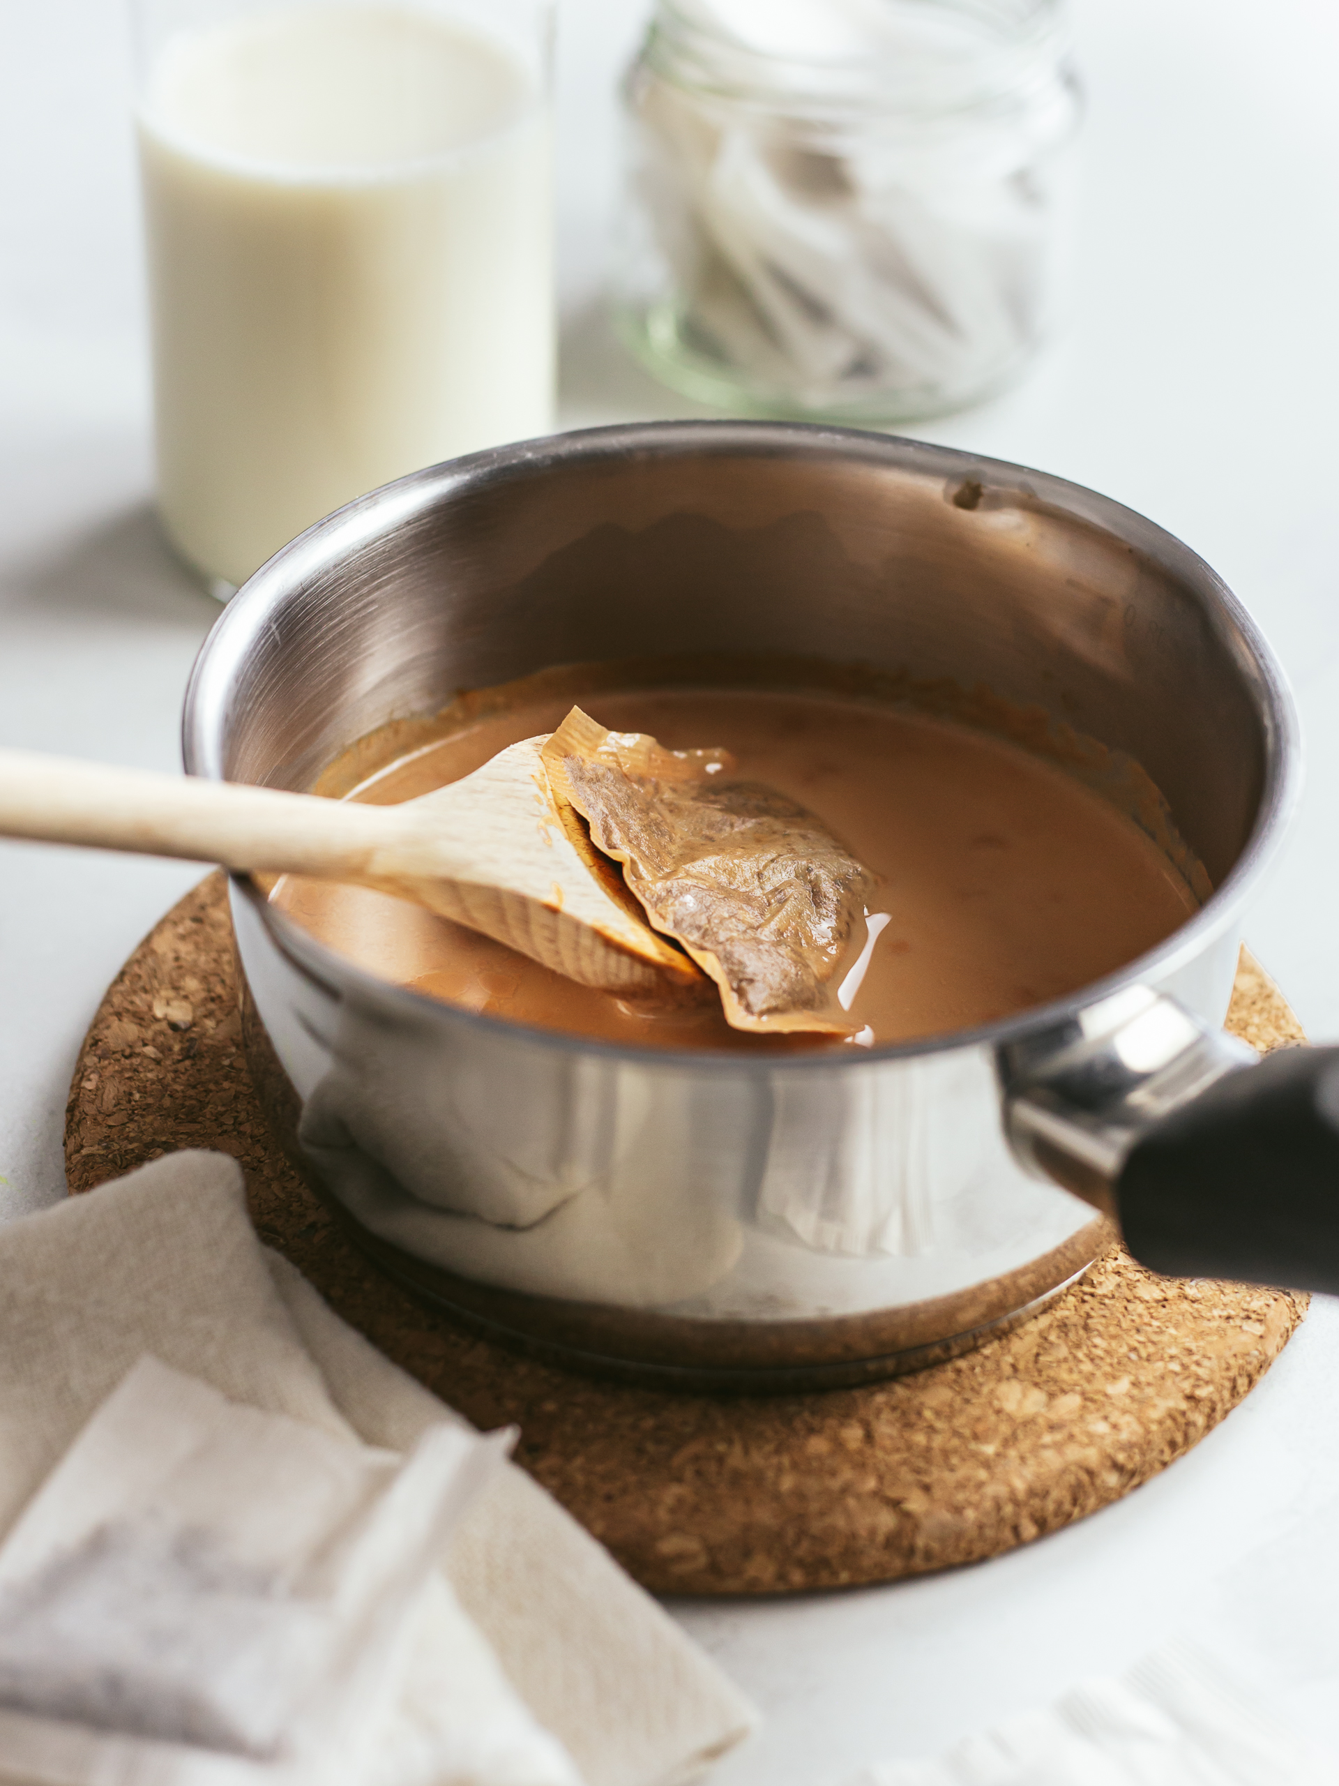
[[543, 741], [511, 745], [473, 775], [398, 805], [0, 750], [0, 834], [352, 882], [603, 991], [702, 986], [571, 807], [553, 800]]

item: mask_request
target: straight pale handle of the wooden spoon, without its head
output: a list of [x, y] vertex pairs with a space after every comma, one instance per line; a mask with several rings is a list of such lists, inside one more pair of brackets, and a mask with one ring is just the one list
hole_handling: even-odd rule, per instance
[[384, 807], [0, 750], [0, 834], [225, 868], [366, 880]]

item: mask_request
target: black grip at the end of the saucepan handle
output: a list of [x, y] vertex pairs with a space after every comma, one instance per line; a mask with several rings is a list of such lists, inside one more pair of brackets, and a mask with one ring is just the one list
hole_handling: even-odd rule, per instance
[[1164, 1116], [1116, 1207], [1153, 1272], [1339, 1295], [1339, 1048], [1284, 1048]]

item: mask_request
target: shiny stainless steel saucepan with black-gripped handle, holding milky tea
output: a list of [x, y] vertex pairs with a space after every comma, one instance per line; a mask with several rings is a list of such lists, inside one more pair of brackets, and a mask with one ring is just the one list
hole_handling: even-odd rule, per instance
[[771, 423], [598, 429], [436, 466], [252, 577], [195, 668], [186, 766], [300, 789], [461, 689], [689, 647], [1044, 709], [1143, 766], [1216, 891], [1071, 998], [923, 1043], [750, 1057], [452, 1009], [330, 954], [237, 877], [254, 1077], [387, 1272], [512, 1341], [727, 1390], [971, 1345], [1094, 1257], [1094, 1206], [1153, 1266], [1339, 1288], [1339, 1220], [1316, 1243], [1330, 1179], [1293, 1191], [1268, 1134], [1296, 1141], [1298, 1098], [1312, 1122], [1327, 1057], [1243, 1073], [1253, 1056], [1219, 1034], [1294, 793], [1293, 707], [1209, 566], [1087, 489]]

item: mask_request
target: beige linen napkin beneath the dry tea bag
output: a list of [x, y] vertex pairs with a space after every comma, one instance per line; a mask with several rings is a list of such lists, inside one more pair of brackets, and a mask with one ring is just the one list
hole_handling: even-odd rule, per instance
[[[393, 1450], [445, 1416], [266, 1254], [221, 1154], [171, 1154], [0, 1231], [0, 1532], [145, 1352]], [[446, 1572], [587, 1786], [673, 1786], [752, 1729], [743, 1695], [514, 1466], [466, 1516]]]

